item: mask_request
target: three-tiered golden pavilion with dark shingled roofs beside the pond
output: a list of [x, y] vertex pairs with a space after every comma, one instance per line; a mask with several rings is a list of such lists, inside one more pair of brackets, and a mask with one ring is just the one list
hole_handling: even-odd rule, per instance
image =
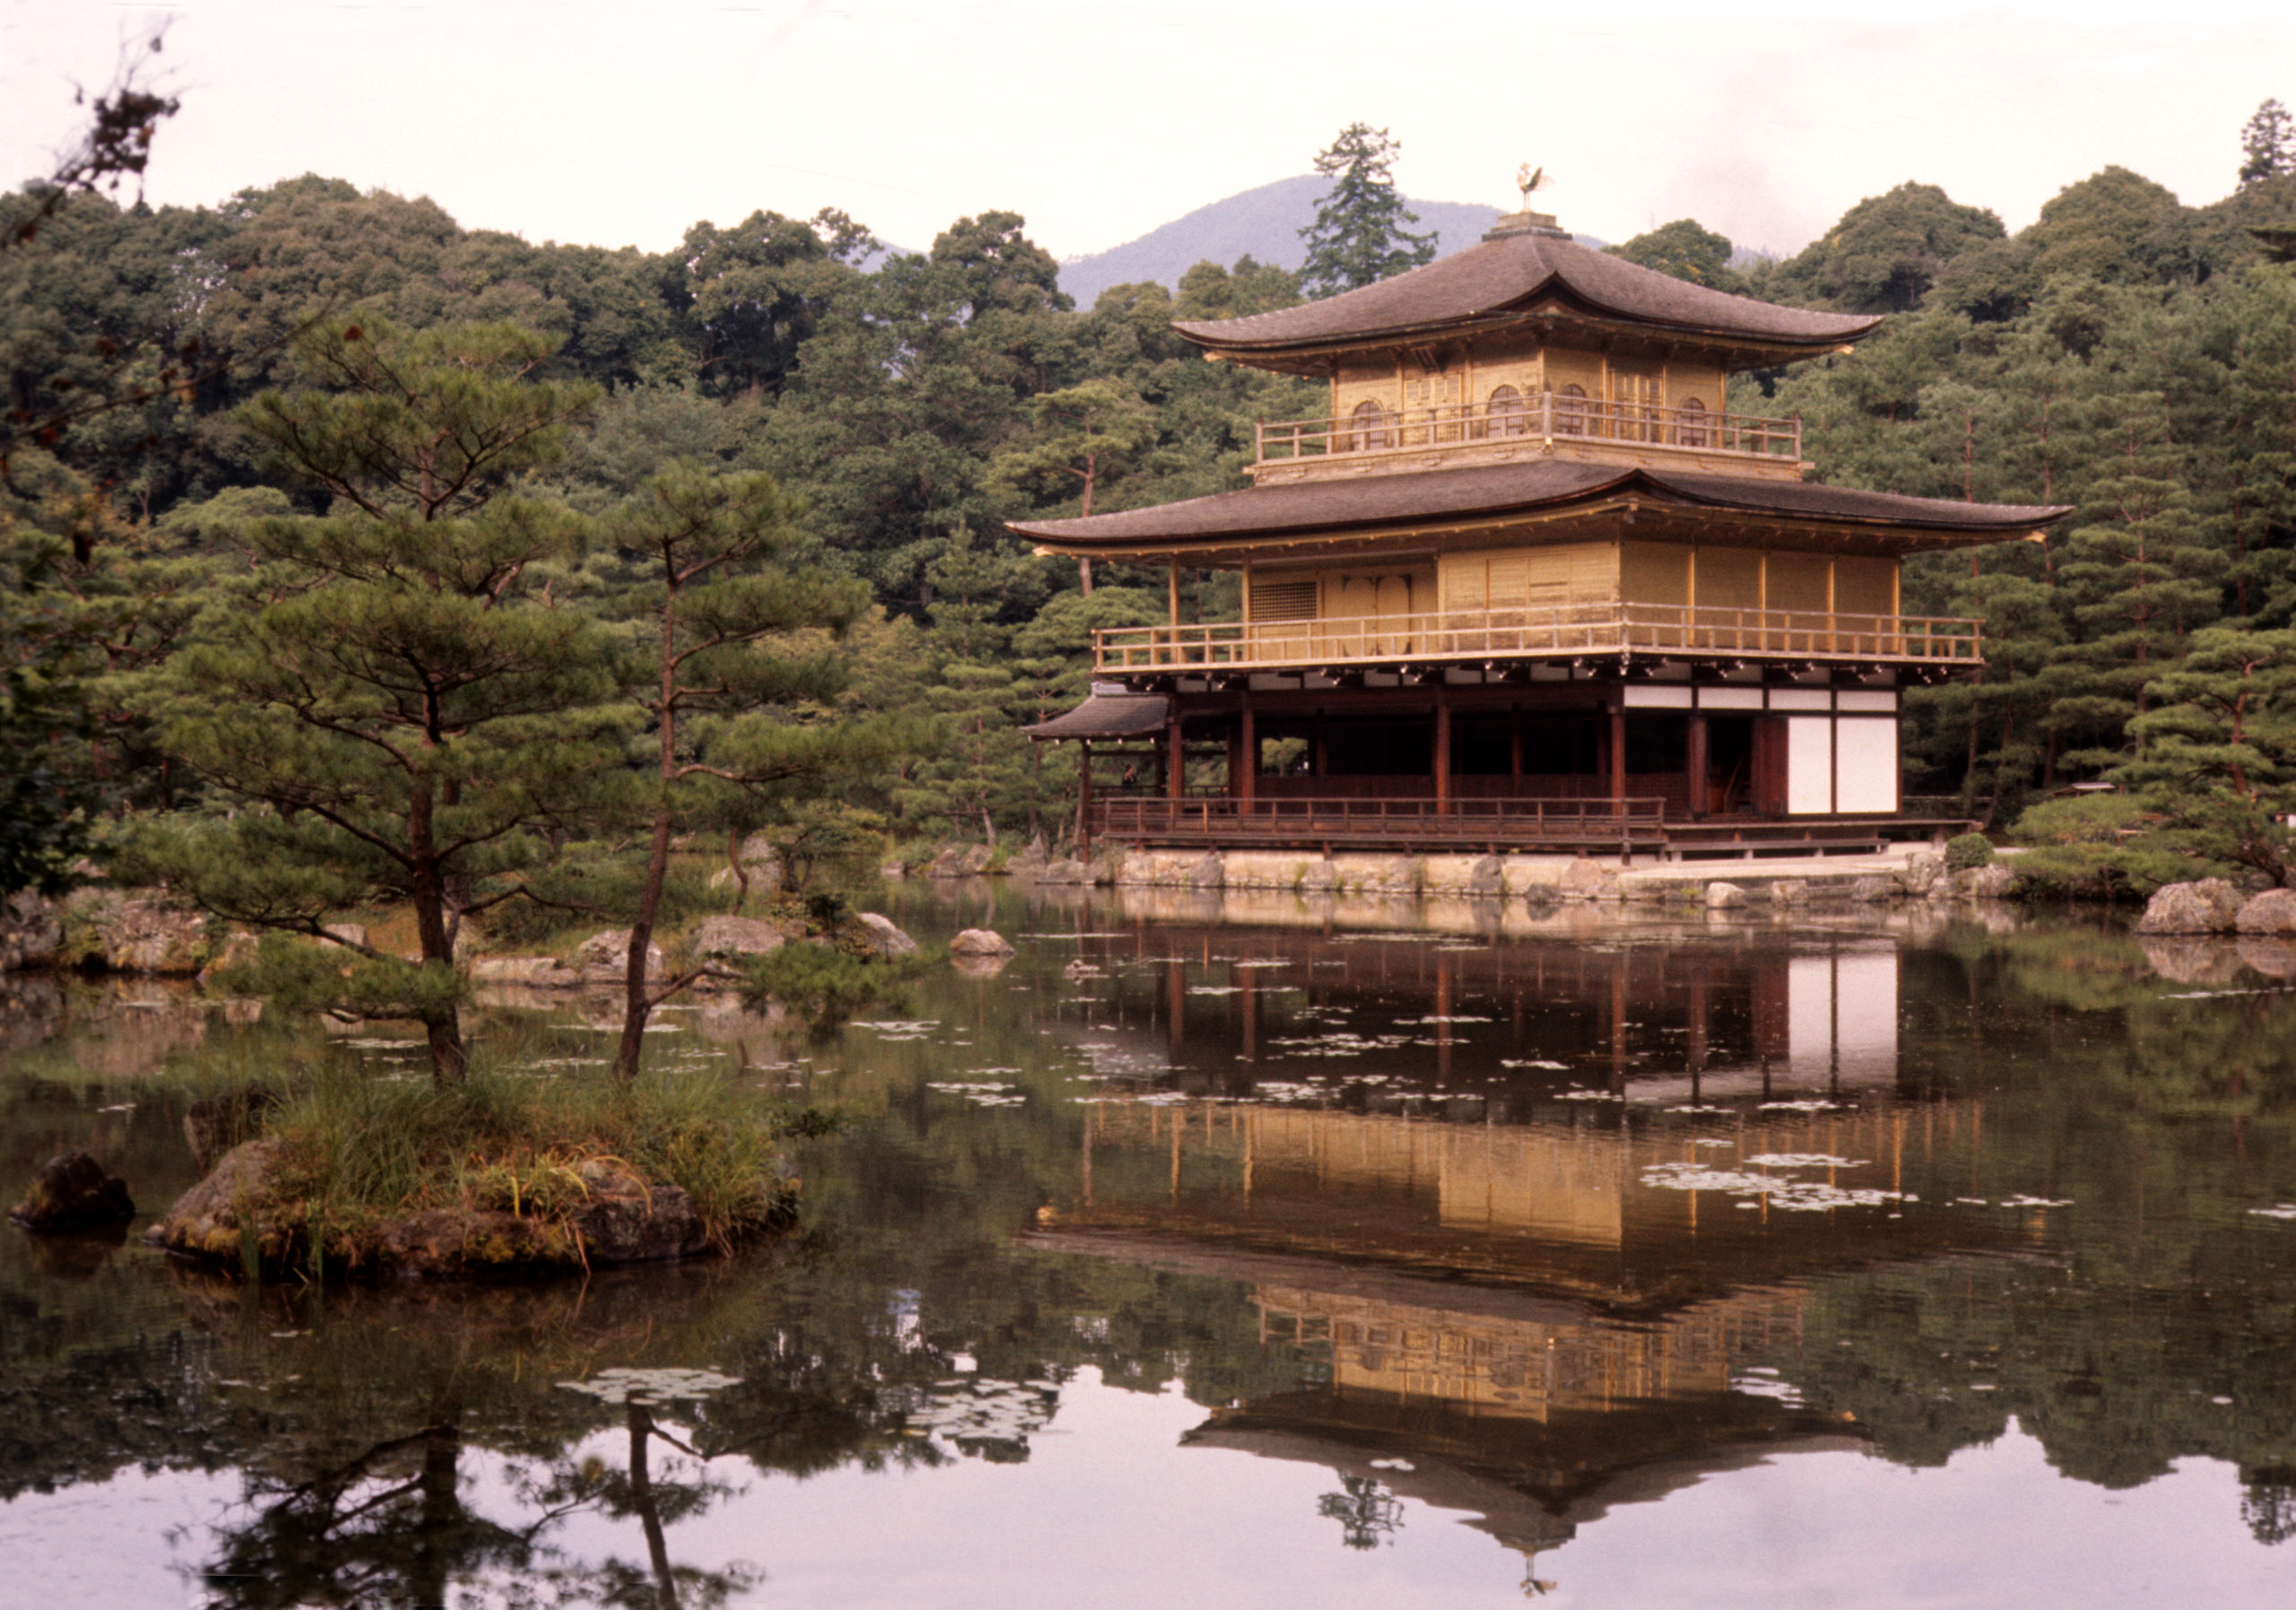
[[[1081, 744], [1081, 827], [1667, 854], [1942, 831], [1901, 815], [1901, 696], [1984, 648], [1977, 620], [1903, 613], [1901, 563], [2071, 510], [1818, 485], [1800, 420], [1724, 411], [1729, 374], [1878, 324], [1690, 285], [1534, 211], [1364, 289], [1178, 324], [1329, 407], [1261, 423], [1240, 491], [1013, 524], [1171, 579], [1169, 620], [1100, 632], [1093, 696], [1031, 728]], [[1240, 574], [1238, 620], [1180, 620], [1201, 570]]]

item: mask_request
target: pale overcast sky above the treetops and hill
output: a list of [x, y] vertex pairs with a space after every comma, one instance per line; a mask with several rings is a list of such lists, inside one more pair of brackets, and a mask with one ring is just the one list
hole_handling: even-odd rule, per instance
[[46, 172], [71, 87], [168, 21], [184, 110], [154, 202], [298, 172], [468, 227], [661, 250], [698, 218], [843, 207], [928, 246], [1010, 209], [1058, 257], [1306, 172], [1364, 119], [1412, 195], [1626, 239], [1694, 216], [1791, 253], [1903, 179], [2032, 223], [2108, 163], [2200, 204], [2296, 103], [2296, 7], [1600, 0], [0, 0], [0, 179]]

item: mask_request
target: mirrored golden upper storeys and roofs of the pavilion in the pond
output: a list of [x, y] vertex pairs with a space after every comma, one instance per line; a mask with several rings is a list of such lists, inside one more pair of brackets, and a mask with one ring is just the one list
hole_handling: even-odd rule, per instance
[[[1855, 1424], [1768, 1373], [1798, 1350], [1800, 1282], [2000, 1245], [1940, 1206], [1977, 1121], [1945, 1102], [1653, 1125], [1109, 1102], [1079, 1201], [1024, 1245], [1251, 1282], [1263, 1344], [1320, 1357], [1322, 1380], [1215, 1408], [1189, 1445], [1318, 1463], [1334, 1507], [1417, 1497], [1536, 1555], [1612, 1504], [1853, 1447]], [[1775, 1194], [1747, 1187], [1768, 1176]]]

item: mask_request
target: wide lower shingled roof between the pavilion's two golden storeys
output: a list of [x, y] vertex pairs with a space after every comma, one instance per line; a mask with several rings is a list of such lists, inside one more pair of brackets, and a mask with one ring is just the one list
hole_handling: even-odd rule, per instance
[[1219, 537], [1322, 535], [1474, 514], [1515, 514], [1568, 503], [1646, 494], [1660, 503], [1812, 519], [1828, 524], [1896, 526], [1924, 533], [1968, 533], [2000, 540], [2073, 510], [2066, 505], [1958, 503], [1903, 498], [1892, 491], [1821, 487], [1802, 480], [1752, 475], [1683, 475], [1665, 469], [1534, 459], [1398, 475], [1334, 475], [1288, 480], [1242, 491], [1219, 491], [1091, 519], [1013, 521], [1013, 531], [1058, 549], [1153, 547]]

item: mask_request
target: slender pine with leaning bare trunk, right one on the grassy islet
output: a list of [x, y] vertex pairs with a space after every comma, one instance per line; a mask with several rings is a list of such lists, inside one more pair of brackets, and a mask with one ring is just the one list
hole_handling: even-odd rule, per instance
[[[794, 547], [794, 505], [771, 475], [714, 475], [673, 464], [613, 521], [613, 547], [631, 563], [620, 593], [631, 613], [629, 684], [654, 723], [657, 795], [645, 882], [629, 932], [629, 974], [615, 1079], [638, 1077], [654, 1006], [698, 978], [647, 983], [645, 953], [661, 912], [670, 834], [703, 802], [696, 785], [739, 795], [794, 795], [898, 746], [886, 723], [794, 723], [767, 712], [833, 698], [843, 666], [824, 645], [778, 648], [806, 632], [843, 632], [868, 606], [861, 581], [783, 570]], [[700, 721], [691, 721], [691, 719]]]

